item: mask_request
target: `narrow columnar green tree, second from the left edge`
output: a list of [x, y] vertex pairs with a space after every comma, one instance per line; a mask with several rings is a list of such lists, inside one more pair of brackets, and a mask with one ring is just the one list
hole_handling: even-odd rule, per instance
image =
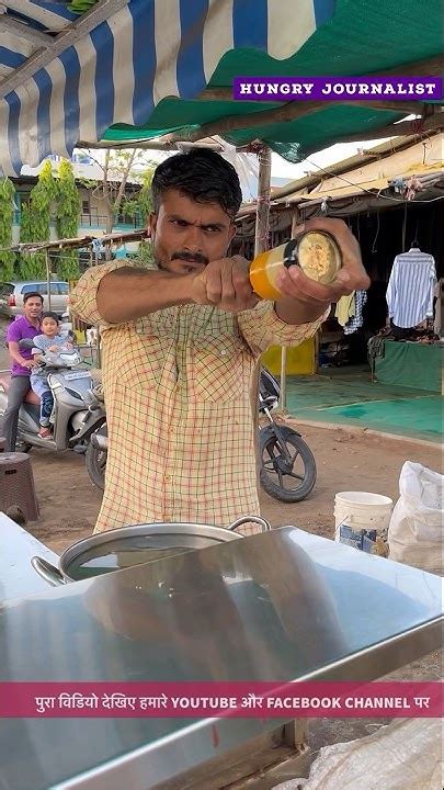
[[[20, 225], [21, 241], [48, 241], [50, 207], [57, 196], [57, 187], [50, 161], [45, 161], [38, 181], [30, 193], [30, 204], [22, 204]], [[46, 278], [46, 257], [41, 252], [22, 252], [19, 259], [19, 276], [22, 280]]]

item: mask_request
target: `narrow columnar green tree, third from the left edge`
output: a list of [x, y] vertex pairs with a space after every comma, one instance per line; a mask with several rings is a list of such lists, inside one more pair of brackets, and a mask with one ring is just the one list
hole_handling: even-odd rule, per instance
[[[76, 187], [72, 165], [62, 159], [58, 166], [56, 181], [56, 227], [58, 238], [75, 238], [79, 228], [80, 196]], [[60, 280], [75, 280], [79, 276], [79, 253], [77, 250], [61, 250], [57, 262]]]

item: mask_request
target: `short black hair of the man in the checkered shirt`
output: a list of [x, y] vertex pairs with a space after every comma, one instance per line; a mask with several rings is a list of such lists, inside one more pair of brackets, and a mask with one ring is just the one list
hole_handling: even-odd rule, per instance
[[192, 148], [158, 165], [151, 183], [156, 213], [162, 193], [169, 189], [179, 190], [196, 203], [218, 203], [230, 217], [236, 216], [242, 202], [235, 168], [210, 148]]

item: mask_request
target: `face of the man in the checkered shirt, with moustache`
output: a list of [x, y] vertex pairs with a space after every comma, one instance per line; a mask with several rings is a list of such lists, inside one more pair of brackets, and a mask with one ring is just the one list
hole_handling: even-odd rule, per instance
[[218, 203], [196, 203], [179, 190], [167, 190], [158, 214], [149, 218], [156, 262], [175, 274], [203, 271], [225, 258], [236, 233]]

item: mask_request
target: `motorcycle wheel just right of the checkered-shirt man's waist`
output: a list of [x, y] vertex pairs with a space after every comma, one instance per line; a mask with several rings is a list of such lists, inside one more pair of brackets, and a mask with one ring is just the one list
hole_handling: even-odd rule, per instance
[[[315, 456], [304, 439], [287, 426], [280, 426], [291, 454], [291, 465], [285, 464], [281, 442], [273, 426], [261, 428], [259, 445], [261, 453], [260, 483], [274, 499], [285, 503], [301, 501], [312, 490], [316, 483]], [[287, 487], [292, 483], [294, 487]]]

